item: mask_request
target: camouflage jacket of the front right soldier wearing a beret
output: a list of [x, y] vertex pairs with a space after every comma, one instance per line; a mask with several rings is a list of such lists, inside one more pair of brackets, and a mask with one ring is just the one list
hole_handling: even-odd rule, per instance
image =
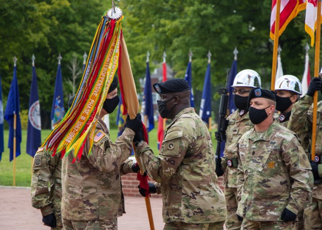
[[297, 214], [311, 201], [313, 175], [296, 135], [273, 122], [246, 132], [238, 142], [237, 214], [254, 221], [281, 221], [284, 208]]

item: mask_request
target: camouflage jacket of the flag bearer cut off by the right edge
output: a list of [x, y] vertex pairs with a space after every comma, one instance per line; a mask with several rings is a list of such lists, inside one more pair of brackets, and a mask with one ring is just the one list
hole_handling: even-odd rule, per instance
[[[305, 95], [296, 102], [292, 109], [292, 115], [289, 120], [288, 128], [297, 135], [306, 135], [308, 140], [302, 142], [304, 150], [310, 154], [312, 141], [312, 121], [313, 121], [313, 97]], [[316, 121], [316, 143], [315, 156], [318, 163], [322, 163], [322, 103], [317, 103], [317, 121]], [[309, 156], [310, 158], [310, 156]], [[319, 176], [322, 177], [322, 165], [318, 166]], [[314, 184], [313, 197], [322, 199], [322, 182]]]

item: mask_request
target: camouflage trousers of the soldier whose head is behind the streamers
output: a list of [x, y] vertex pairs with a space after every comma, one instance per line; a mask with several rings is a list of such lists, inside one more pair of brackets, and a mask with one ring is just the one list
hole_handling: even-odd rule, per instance
[[117, 230], [117, 218], [108, 220], [69, 220], [62, 219], [64, 230]]

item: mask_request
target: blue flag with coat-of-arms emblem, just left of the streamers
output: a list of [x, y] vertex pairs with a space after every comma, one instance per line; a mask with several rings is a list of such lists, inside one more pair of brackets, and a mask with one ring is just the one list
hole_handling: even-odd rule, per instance
[[54, 128], [65, 115], [63, 91], [62, 91], [62, 75], [61, 75], [61, 65], [58, 64], [55, 91], [51, 107], [50, 119], [52, 122], [52, 128]]

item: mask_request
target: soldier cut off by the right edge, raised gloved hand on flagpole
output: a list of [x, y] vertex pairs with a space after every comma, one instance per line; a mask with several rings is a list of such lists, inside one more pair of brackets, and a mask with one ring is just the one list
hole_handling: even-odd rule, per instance
[[[317, 104], [317, 126], [315, 152], [311, 152], [312, 120], [313, 120], [313, 95], [320, 90], [321, 82], [319, 78], [313, 78], [309, 84], [307, 93], [297, 103], [294, 104], [289, 120], [288, 128], [298, 135], [308, 135], [308, 153], [315, 155], [315, 162], [311, 161], [314, 176], [313, 199], [304, 210], [304, 229], [322, 229], [322, 102]], [[310, 158], [310, 156], [309, 156]]]

